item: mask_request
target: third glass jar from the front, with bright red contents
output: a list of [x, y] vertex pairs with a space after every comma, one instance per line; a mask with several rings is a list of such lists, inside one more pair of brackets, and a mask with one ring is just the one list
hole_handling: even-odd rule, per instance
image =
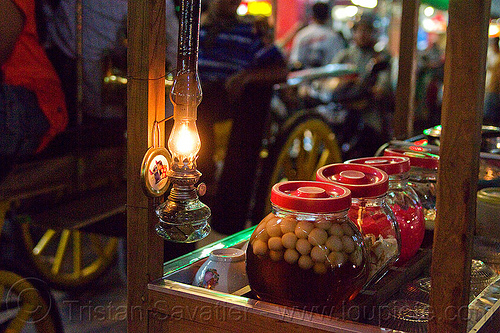
[[396, 216], [401, 232], [401, 254], [396, 264], [404, 264], [417, 253], [425, 234], [422, 204], [408, 184], [410, 159], [402, 156], [364, 157], [345, 163], [374, 166], [389, 175], [387, 203]]

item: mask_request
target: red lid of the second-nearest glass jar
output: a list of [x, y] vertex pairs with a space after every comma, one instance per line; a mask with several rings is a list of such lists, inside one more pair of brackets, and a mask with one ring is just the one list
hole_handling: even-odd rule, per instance
[[387, 193], [389, 176], [384, 171], [364, 164], [336, 163], [316, 171], [316, 180], [345, 186], [353, 198], [378, 197]]

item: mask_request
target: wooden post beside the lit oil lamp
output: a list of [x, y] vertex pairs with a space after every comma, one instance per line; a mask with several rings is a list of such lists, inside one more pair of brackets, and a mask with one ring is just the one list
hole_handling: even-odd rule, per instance
[[140, 168], [153, 122], [165, 116], [165, 0], [130, 0], [127, 30], [127, 330], [146, 333], [147, 284], [163, 274], [163, 239], [154, 229], [156, 203], [142, 191]]

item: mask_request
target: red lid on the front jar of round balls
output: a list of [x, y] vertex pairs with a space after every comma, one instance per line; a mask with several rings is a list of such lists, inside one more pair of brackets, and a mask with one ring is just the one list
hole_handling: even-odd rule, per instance
[[334, 213], [351, 206], [351, 191], [324, 182], [287, 181], [273, 186], [271, 202], [303, 213]]

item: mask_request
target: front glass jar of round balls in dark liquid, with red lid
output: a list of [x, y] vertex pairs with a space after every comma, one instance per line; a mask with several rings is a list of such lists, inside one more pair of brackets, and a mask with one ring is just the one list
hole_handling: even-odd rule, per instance
[[365, 245], [347, 217], [348, 189], [312, 181], [282, 182], [272, 212], [252, 233], [247, 276], [259, 299], [288, 306], [338, 308], [368, 278]]

